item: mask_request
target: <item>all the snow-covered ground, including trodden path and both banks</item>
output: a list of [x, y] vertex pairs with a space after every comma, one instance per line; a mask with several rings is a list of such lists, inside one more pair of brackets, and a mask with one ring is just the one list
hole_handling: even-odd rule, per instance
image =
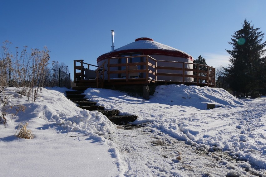
[[[31, 102], [7, 88], [9, 105], [27, 109], [0, 125], [1, 176], [266, 176], [266, 97], [185, 85], [158, 86], [149, 100], [85, 91], [106, 109], [139, 117], [133, 124], [142, 126], [125, 128], [76, 107], [66, 90], [43, 88]], [[32, 140], [14, 136], [26, 122]]]

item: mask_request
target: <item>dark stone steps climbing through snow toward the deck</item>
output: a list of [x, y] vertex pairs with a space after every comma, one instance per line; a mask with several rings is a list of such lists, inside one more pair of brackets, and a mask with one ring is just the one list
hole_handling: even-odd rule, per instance
[[129, 122], [134, 122], [138, 118], [138, 116], [134, 115], [119, 116], [120, 112], [117, 109], [105, 110], [103, 106], [96, 106], [97, 102], [89, 101], [88, 99], [84, 98], [85, 95], [82, 93], [84, 93], [84, 91], [66, 91], [66, 97], [72, 102], [76, 103], [79, 108], [101, 112], [116, 125], [125, 125]]

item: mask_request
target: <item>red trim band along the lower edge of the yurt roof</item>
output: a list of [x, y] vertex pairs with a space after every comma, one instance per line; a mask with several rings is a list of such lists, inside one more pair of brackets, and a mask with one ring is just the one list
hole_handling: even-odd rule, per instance
[[160, 50], [160, 49], [129, 49], [129, 50], [120, 50], [120, 51], [113, 51], [106, 54], [103, 54], [97, 58], [97, 63], [105, 60], [108, 57], [120, 57], [120, 54], [124, 53], [133, 53], [139, 52], [141, 55], [166, 55], [166, 56], [175, 56], [186, 58], [193, 61], [192, 56], [182, 53], [180, 51], [172, 51], [172, 50]]

